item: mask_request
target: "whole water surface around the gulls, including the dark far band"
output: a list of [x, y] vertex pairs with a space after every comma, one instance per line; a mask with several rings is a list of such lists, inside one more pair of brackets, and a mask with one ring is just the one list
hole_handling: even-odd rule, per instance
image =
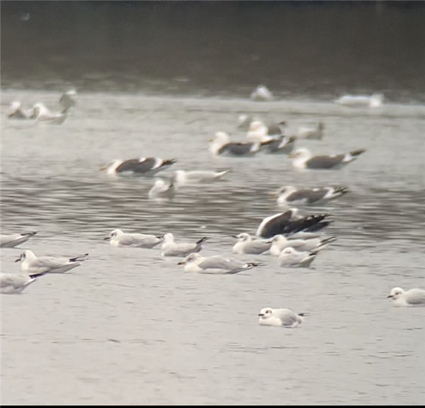
[[[424, 8], [34, 4], [0, 1], [1, 233], [38, 231], [1, 249], [0, 267], [18, 272], [23, 249], [90, 255], [0, 296], [1, 404], [423, 404], [425, 308], [386, 297], [395, 286], [425, 288]], [[249, 101], [259, 83], [279, 100]], [[69, 86], [77, 106], [62, 125], [7, 120], [11, 101], [56, 109]], [[344, 91], [383, 91], [388, 103], [331, 102]], [[366, 152], [339, 171], [295, 171], [267, 154], [212, 159], [217, 130], [244, 140], [239, 113], [290, 130], [322, 120], [324, 140], [298, 147]], [[177, 159], [158, 176], [232, 171], [156, 203], [153, 179], [99, 171], [136, 156]], [[285, 184], [351, 188], [300, 207], [330, 212], [325, 232], [336, 242], [311, 268], [233, 255], [231, 235], [280, 212], [267, 193]], [[115, 228], [208, 236], [201, 254], [264, 265], [183, 273], [160, 248], [103, 241]], [[261, 327], [263, 307], [310, 315], [296, 329]]]

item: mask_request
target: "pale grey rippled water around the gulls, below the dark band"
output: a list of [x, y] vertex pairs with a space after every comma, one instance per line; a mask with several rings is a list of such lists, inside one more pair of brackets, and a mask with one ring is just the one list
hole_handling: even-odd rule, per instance
[[[424, 308], [397, 308], [394, 286], [424, 282], [424, 106], [369, 111], [332, 103], [143, 94], [79, 94], [60, 126], [6, 120], [8, 103], [58, 95], [1, 92], [1, 230], [39, 233], [1, 250], [1, 271], [24, 248], [90, 259], [1, 296], [2, 404], [421, 404]], [[290, 160], [208, 154], [217, 130], [244, 134], [237, 115], [325, 123], [315, 153], [367, 152], [341, 171], [295, 171]], [[176, 158], [175, 169], [231, 168], [227, 179], [147, 199], [153, 180], [114, 179], [114, 158]], [[159, 174], [160, 175], [160, 174]], [[203, 253], [231, 254], [234, 232], [255, 232], [280, 209], [283, 184], [341, 184], [351, 193], [302, 212], [331, 212], [338, 238], [310, 269], [261, 268], [232, 276], [183, 273], [160, 249], [120, 249], [112, 229], [176, 239], [212, 237]], [[236, 257], [236, 256], [235, 256]], [[310, 316], [297, 329], [260, 327], [262, 307]]]

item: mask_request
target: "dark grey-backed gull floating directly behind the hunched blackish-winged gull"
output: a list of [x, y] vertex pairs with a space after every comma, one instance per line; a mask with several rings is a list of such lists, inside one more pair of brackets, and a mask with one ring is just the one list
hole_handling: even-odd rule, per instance
[[278, 205], [297, 204], [319, 204], [335, 200], [350, 189], [343, 186], [316, 187], [316, 188], [296, 188], [294, 186], [283, 186], [278, 191], [271, 191], [269, 196], [278, 196]]

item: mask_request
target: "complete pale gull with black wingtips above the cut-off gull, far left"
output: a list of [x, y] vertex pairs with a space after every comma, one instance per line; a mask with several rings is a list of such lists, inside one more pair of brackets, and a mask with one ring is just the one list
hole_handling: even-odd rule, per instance
[[55, 258], [53, 256], [37, 257], [27, 249], [15, 262], [22, 261], [21, 269], [26, 273], [64, 273], [81, 265], [89, 254], [74, 256], [73, 258]]

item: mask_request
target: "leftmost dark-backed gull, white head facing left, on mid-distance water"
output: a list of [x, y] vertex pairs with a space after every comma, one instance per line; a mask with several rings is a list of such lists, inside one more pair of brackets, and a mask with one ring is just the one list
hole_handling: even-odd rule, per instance
[[152, 176], [176, 162], [176, 159], [159, 159], [159, 157], [140, 157], [138, 159], [127, 160], [115, 159], [110, 164], [101, 166], [101, 170], [105, 170], [106, 174], [120, 174], [121, 176], [126, 174]]

